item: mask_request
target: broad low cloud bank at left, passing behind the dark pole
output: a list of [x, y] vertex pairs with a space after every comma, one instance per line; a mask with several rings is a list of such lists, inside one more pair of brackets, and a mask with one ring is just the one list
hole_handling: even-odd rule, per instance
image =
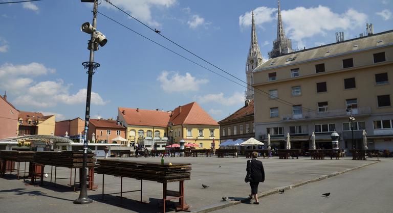
[[[34, 77], [54, 73], [55, 70], [36, 62], [27, 65], [6, 63], [0, 66], [0, 88], [15, 97], [16, 105], [30, 105], [39, 108], [55, 107], [58, 103], [80, 104], [86, 102], [86, 89], [76, 94], [69, 92], [71, 84], [64, 84], [62, 79], [56, 81], [34, 81]], [[10, 96], [11, 97], [11, 96]], [[91, 102], [104, 105], [101, 96], [92, 92]]]

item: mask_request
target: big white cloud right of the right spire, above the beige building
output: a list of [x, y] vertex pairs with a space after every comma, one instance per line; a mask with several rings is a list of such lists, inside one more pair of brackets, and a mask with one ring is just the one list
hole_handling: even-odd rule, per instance
[[[317, 34], [325, 35], [326, 31], [337, 29], [348, 30], [363, 26], [367, 15], [354, 9], [338, 14], [330, 8], [319, 5], [315, 8], [297, 7], [284, 10], [282, 20], [288, 37], [295, 40], [298, 46], [305, 46], [302, 39]], [[307, 14], [307, 15], [306, 15]]]

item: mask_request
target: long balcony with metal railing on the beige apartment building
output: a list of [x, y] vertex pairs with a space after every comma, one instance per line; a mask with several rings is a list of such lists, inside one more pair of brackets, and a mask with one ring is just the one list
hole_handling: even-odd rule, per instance
[[[323, 119], [323, 118], [337, 118], [337, 117], [348, 117], [350, 113], [346, 112], [346, 109], [329, 110], [326, 112], [307, 112], [302, 114], [289, 114], [282, 115], [281, 119], [284, 122], [290, 122], [293, 120], [308, 120], [308, 119]], [[370, 107], [361, 107], [352, 109], [352, 115], [371, 115]]]

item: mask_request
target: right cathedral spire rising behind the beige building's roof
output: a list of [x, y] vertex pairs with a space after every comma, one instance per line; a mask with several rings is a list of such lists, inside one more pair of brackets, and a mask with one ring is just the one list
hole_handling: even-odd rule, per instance
[[281, 19], [280, 0], [278, 0], [278, 15], [277, 15], [277, 39], [273, 42], [273, 49], [269, 52], [269, 58], [275, 58], [283, 54], [292, 52], [292, 41], [285, 37], [284, 26]]

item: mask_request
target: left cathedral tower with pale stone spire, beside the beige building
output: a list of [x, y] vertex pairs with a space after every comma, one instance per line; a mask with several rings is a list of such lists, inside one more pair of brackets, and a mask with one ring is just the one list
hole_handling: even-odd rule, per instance
[[251, 45], [250, 51], [248, 52], [247, 62], [246, 62], [246, 77], [247, 77], [247, 91], [245, 94], [247, 99], [254, 99], [254, 89], [251, 87], [253, 84], [253, 74], [252, 70], [254, 70], [257, 66], [264, 63], [264, 59], [260, 54], [260, 49], [258, 45], [258, 39], [256, 38], [255, 31], [255, 21], [254, 21], [254, 12], [251, 12]]

